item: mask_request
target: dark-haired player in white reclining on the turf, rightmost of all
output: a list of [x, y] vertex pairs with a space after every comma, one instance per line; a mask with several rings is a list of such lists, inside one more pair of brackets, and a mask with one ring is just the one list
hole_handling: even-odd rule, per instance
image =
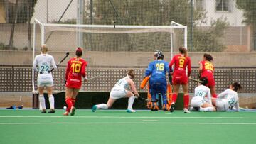
[[242, 89], [242, 86], [238, 82], [234, 82], [230, 85], [229, 89], [218, 94], [217, 98], [212, 98], [213, 105], [217, 111], [228, 111], [234, 108], [235, 111], [239, 111], [239, 98], [238, 91]]

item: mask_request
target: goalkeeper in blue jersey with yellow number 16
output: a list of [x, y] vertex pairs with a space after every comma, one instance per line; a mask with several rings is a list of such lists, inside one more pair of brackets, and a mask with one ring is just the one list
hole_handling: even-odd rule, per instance
[[[149, 63], [148, 68], [144, 74], [145, 77], [149, 77], [149, 92], [151, 94], [151, 99], [156, 99], [157, 94], [162, 96], [163, 110], [167, 109], [167, 98], [166, 98], [166, 74], [168, 74], [169, 82], [171, 83], [171, 72], [169, 70], [169, 63], [164, 61], [163, 52], [157, 50], [154, 53], [154, 61]], [[157, 111], [156, 103], [152, 103], [151, 111]]]

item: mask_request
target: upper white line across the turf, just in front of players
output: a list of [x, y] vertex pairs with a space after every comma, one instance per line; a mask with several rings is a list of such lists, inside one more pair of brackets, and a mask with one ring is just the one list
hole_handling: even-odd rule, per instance
[[199, 116], [0, 116], [0, 118], [201, 118], [201, 119], [256, 119], [250, 117], [199, 117]]

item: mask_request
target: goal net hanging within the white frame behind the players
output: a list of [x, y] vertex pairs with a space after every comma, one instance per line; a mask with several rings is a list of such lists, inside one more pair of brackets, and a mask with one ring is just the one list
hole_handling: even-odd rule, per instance
[[[35, 19], [33, 57], [40, 53], [40, 45], [43, 43], [48, 45], [49, 53], [55, 57], [56, 63], [65, 52], [75, 56], [73, 52], [80, 46], [84, 48], [83, 57], [90, 67], [144, 69], [153, 60], [156, 50], [163, 51], [164, 60], [169, 62], [171, 55], [178, 52], [179, 46], [186, 47], [186, 28], [175, 22], [171, 22], [170, 26], [119, 26], [41, 23]], [[125, 74], [125, 71], [122, 73]], [[97, 74], [97, 70], [88, 72], [88, 77], [94, 77], [95, 75], [90, 75], [94, 73]], [[116, 75], [111, 75], [113, 83]], [[107, 84], [112, 86], [113, 83]], [[109, 90], [110, 88], [100, 88], [100, 91]]]

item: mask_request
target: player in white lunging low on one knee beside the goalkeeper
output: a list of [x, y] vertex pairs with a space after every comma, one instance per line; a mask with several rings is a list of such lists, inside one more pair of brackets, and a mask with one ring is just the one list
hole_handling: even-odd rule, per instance
[[[135, 96], [138, 97], [139, 94], [135, 88], [134, 82], [132, 81], [133, 78], [134, 70], [129, 70], [129, 72], [127, 72], [127, 77], [119, 79], [117, 84], [115, 84], [114, 87], [111, 89], [110, 98], [108, 99], [107, 104], [97, 104], [92, 106], [92, 112], [95, 112], [96, 109], [109, 109], [112, 104], [114, 104], [114, 101], [124, 97], [129, 98], [127, 112], [136, 112], [134, 109], [132, 109], [132, 104], [134, 103]], [[128, 87], [131, 87], [132, 91], [127, 90]]]

